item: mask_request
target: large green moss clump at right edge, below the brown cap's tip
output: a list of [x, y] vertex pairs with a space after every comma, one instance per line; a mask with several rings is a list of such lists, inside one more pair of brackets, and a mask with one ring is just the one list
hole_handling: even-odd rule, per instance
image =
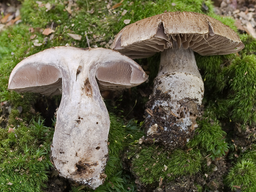
[[256, 56], [236, 57], [218, 75], [220, 89], [228, 88], [227, 107], [232, 121], [242, 124], [256, 122]]

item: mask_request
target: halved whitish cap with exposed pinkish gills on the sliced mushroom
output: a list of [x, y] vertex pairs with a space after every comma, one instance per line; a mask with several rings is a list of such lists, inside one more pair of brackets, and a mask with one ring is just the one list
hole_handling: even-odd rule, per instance
[[60, 94], [62, 78], [68, 75], [61, 69], [66, 64], [60, 62], [64, 57], [79, 56], [98, 57], [98, 62], [104, 63], [96, 71], [96, 78], [102, 89], [130, 88], [143, 83], [148, 77], [136, 62], [117, 51], [61, 46], [43, 50], [17, 64], [10, 74], [8, 89], [39, 92], [43, 95]]

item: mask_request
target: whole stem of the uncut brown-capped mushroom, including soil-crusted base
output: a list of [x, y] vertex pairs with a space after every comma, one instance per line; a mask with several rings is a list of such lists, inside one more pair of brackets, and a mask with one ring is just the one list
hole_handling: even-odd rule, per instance
[[161, 52], [159, 73], [146, 106], [147, 136], [170, 148], [184, 147], [200, 116], [204, 83], [191, 49], [173, 42]]

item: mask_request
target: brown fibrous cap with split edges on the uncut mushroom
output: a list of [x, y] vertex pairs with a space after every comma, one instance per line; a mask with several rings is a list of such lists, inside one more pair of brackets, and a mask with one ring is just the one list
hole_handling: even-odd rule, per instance
[[166, 12], [137, 21], [117, 34], [112, 47], [135, 59], [173, 47], [173, 41], [200, 55], [226, 55], [244, 48], [229, 26], [195, 12]]

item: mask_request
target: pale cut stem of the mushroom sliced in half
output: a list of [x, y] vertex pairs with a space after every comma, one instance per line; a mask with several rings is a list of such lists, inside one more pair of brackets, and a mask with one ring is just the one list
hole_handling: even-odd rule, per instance
[[[82, 67], [81, 67], [82, 66]], [[107, 175], [109, 115], [85, 65], [62, 79], [62, 96], [52, 141], [52, 163], [60, 175], [95, 189]], [[97, 142], [95, 142], [97, 141]]]

